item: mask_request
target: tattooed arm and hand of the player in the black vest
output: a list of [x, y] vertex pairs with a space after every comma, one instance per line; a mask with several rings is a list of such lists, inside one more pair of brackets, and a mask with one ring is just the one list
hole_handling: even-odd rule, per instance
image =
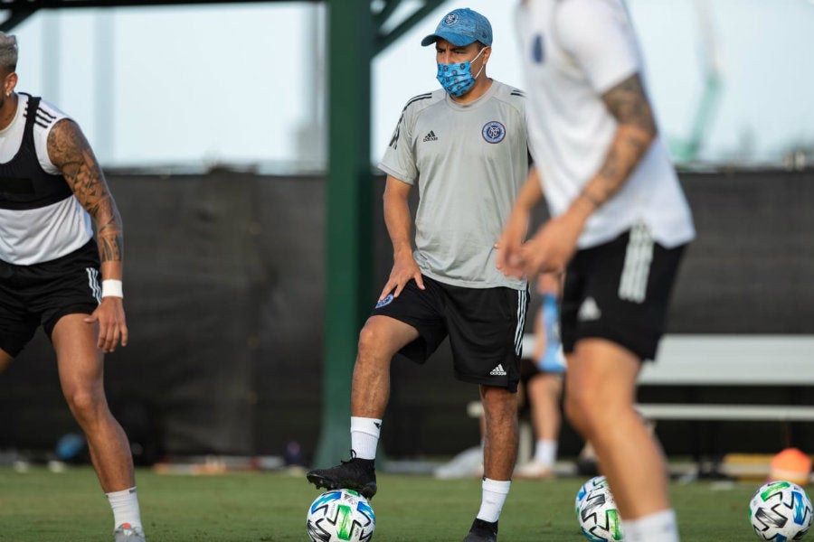
[[[70, 118], [57, 122], [48, 135], [48, 156], [71, 186], [73, 195], [88, 211], [96, 227], [102, 279], [121, 280], [123, 238], [121, 217], [88, 140]], [[121, 297], [103, 297], [86, 322], [99, 322], [99, 348], [105, 352], [128, 341]]]

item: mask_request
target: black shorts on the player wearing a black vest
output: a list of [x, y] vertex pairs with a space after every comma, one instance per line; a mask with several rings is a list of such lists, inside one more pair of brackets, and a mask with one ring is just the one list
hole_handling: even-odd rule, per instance
[[0, 348], [16, 356], [42, 325], [49, 339], [62, 316], [99, 306], [96, 241], [57, 259], [15, 266], [0, 261]]

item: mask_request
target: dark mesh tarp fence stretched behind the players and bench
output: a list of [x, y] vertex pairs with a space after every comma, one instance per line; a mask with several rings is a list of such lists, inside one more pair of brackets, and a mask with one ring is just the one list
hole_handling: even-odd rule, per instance
[[[814, 172], [682, 179], [698, 238], [668, 331], [814, 333]], [[381, 194], [383, 179], [376, 182]], [[109, 173], [109, 184], [125, 222], [131, 340], [109, 356], [107, 389], [144, 460], [280, 454], [289, 441], [313, 453], [321, 419], [323, 179], [215, 170]], [[381, 200], [374, 201], [371, 304], [392, 263]], [[444, 344], [424, 367], [393, 365], [387, 453], [457, 453], [478, 442], [477, 421], [465, 414], [477, 389], [452, 378], [449, 358]], [[785, 401], [790, 392], [777, 393]], [[686, 428], [676, 425], [671, 435], [669, 427], [660, 433], [667, 450], [686, 453]], [[0, 449], [52, 449], [75, 430], [50, 344], [38, 333], [0, 376]], [[798, 445], [814, 448], [809, 429], [798, 431]], [[731, 438], [739, 450], [762, 445], [750, 435]], [[566, 428], [563, 453], [578, 446]]]

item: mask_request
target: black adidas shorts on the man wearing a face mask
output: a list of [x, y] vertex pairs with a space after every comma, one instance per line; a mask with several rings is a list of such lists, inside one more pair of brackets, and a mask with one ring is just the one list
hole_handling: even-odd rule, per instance
[[516, 391], [528, 291], [465, 288], [429, 276], [423, 280], [425, 290], [410, 281], [398, 297], [388, 295], [371, 313], [418, 330], [421, 336], [399, 354], [424, 363], [449, 335], [455, 378]]

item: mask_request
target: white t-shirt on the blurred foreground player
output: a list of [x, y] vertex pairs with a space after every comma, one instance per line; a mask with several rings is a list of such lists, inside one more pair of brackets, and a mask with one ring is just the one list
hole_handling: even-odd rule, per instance
[[[552, 216], [559, 216], [604, 162], [617, 122], [601, 95], [643, 66], [619, 0], [528, 0], [516, 14], [526, 78], [529, 142]], [[610, 201], [594, 212], [580, 248], [636, 223], [667, 248], [695, 237], [667, 147], [657, 137]]]

